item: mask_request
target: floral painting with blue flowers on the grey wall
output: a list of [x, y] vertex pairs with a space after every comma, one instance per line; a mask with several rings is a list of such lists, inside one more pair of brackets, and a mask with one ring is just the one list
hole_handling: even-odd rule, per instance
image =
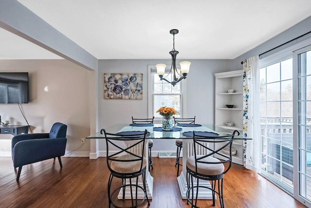
[[104, 99], [142, 99], [142, 74], [104, 74]]

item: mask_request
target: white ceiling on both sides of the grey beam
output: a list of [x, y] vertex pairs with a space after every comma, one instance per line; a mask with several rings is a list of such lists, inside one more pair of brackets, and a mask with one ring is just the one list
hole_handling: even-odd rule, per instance
[[[311, 16], [311, 0], [18, 0], [98, 59], [233, 59]], [[0, 59], [60, 58], [0, 29]]]

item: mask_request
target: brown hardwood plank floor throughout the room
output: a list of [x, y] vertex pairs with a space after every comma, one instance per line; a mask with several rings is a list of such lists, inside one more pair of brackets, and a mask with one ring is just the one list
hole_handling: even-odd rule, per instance
[[[62, 169], [57, 159], [26, 165], [17, 183], [12, 159], [0, 157], [0, 207], [107, 208], [105, 157], [62, 157], [62, 162]], [[174, 159], [153, 158], [153, 162], [150, 208], [190, 208], [180, 197]], [[224, 198], [226, 208], [305, 208], [259, 174], [236, 164], [225, 174]], [[209, 208], [212, 202], [199, 200], [198, 206]], [[217, 201], [216, 208], [219, 206]], [[147, 203], [140, 207], [146, 208]]]

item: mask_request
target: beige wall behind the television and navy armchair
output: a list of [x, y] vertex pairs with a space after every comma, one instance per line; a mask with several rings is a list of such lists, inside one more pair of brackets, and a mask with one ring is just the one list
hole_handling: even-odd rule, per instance
[[[66, 153], [81, 146], [81, 138], [90, 134], [93, 72], [68, 60], [0, 60], [0, 71], [29, 73], [30, 102], [20, 106], [33, 132], [50, 132], [53, 123], [61, 122], [68, 126]], [[0, 115], [12, 125], [27, 125], [17, 104], [0, 104]], [[10, 154], [12, 137], [0, 134], [0, 155]], [[67, 156], [89, 156], [89, 143]]]

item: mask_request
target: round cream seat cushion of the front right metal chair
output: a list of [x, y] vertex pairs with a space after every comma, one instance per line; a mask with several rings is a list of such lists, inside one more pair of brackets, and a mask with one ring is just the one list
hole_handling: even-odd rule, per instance
[[[197, 158], [202, 157], [204, 155], [197, 155]], [[204, 162], [220, 162], [219, 159], [215, 157], [206, 157], [200, 161]], [[186, 162], [187, 168], [195, 172], [195, 158], [194, 156], [190, 156]], [[198, 174], [202, 175], [219, 175], [222, 174], [225, 170], [224, 164], [205, 164], [205, 163], [197, 163], [198, 166]]]

